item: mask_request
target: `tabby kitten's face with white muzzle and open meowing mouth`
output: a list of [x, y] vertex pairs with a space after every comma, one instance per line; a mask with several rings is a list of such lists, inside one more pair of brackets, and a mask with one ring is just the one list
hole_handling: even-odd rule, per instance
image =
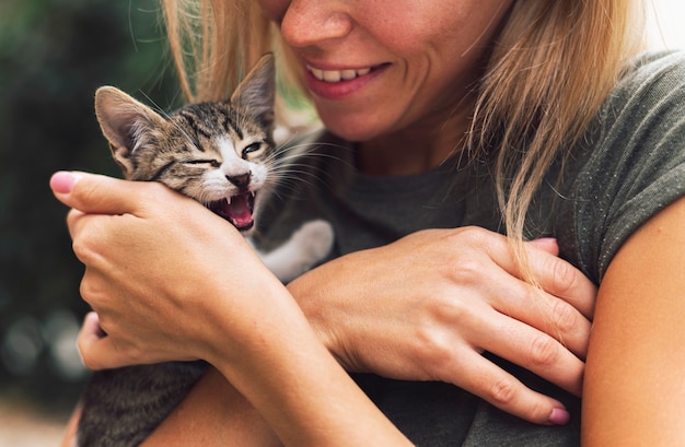
[[190, 105], [135, 151], [130, 179], [161, 181], [247, 231], [272, 148], [269, 133], [229, 104]]

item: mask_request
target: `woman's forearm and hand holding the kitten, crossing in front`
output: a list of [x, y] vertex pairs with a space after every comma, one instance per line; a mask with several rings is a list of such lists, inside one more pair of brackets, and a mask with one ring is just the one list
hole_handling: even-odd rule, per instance
[[159, 184], [60, 174], [51, 185], [73, 208], [81, 292], [107, 333], [84, 326], [86, 366], [205, 358], [286, 445], [410, 445], [225, 221]]

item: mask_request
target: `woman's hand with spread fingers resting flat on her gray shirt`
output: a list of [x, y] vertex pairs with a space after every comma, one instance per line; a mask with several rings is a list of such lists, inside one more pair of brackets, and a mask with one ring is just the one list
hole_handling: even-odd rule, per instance
[[560, 402], [480, 355], [580, 396], [596, 289], [557, 250], [553, 239], [527, 245], [544, 292], [520, 280], [503, 236], [476, 227], [351, 254], [289, 290], [348, 370], [452, 383], [531, 422], [565, 423]]

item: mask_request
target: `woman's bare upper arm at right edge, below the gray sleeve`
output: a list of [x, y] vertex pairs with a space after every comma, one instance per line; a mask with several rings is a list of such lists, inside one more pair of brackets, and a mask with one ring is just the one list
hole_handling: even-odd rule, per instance
[[641, 226], [600, 286], [584, 446], [685, 444], [685, 198]]

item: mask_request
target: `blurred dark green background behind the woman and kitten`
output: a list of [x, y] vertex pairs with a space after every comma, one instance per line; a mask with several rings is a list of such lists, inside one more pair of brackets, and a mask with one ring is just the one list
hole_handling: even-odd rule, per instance
[[[685, 3], [653, 2], [652, 47], [685, 47]], [[86, 378], [74, 346], [82, 267], [48, 179], [119, 176], [94, 91], [113, 84], [172, 109], [170, 63], [158, 0], [0, 0], [0, 446], [57, 445]]]

